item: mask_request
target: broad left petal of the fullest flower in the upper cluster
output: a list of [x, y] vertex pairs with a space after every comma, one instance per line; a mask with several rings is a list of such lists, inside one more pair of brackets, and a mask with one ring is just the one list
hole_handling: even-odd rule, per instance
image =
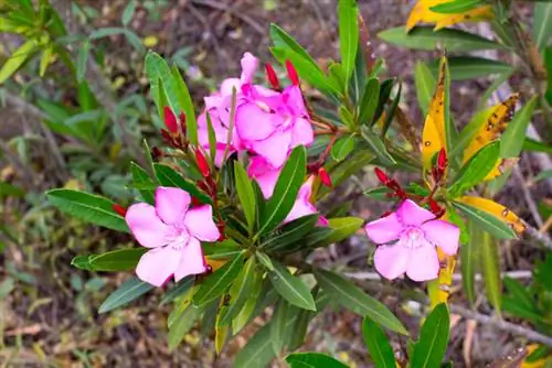
[[236, 110], [236, 130], [244, 141], [258, 141], [274, 133], [276, 125], [273, 120], [278, 117], [265, 111], [254, 102], [244, 104]]

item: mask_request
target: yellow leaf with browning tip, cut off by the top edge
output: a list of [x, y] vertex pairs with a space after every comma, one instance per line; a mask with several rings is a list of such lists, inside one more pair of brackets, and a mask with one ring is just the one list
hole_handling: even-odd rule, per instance
[[434, 23], [435, 31], [443, 28], [454, 25], [460, 22], [480, 22], [486, 20], [492, 20], [495, 14], [490, 6], [484, 6], [463, 13], [436, 13], [431, 10], [431, 8], [450, 2], [454, 0], [418, 0], [418, 2], [412, 9], [412, 12], [406, 21], [406, 32], [410, 32], [417, 23]]

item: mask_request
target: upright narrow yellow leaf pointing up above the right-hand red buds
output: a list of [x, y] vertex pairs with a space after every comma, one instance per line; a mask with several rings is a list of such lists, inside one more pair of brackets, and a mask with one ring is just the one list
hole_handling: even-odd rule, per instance
[[429, 112], [425, 118], [424, 131], [422, 134], [422, 161], [424, 169], [429, 169], [432, 159], [442, 148], [447, 150], [445, 134], [445, 69], [446, 57], [442, 57], [440, 73], [437, 88], [433, 95]]

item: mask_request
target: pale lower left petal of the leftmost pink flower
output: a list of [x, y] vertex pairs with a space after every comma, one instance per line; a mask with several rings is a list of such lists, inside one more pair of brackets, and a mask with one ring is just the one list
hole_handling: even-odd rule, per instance
[[161, 286], [177, 270], [180, 258], [181, 250], [170, 246], [152, 249], [141, 256], [136, 275], [141, 281]]

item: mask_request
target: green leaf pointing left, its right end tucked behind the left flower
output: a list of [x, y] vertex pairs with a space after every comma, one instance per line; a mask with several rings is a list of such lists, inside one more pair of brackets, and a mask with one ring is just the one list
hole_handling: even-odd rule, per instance
[[77, 256], [71, 264], [83, 270], [130, 271], [136, 268], [147, 248], [130, 248], [108, 251], [102, 255]]

